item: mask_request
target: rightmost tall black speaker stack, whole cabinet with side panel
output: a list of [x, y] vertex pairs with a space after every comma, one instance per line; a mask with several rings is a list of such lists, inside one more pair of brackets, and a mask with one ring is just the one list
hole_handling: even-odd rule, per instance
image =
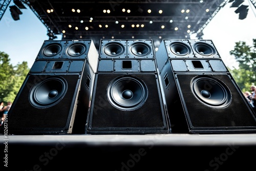
[[255, 116], [211, 40], [163, 39], [158, 73], [173, 133], [254, 133]]

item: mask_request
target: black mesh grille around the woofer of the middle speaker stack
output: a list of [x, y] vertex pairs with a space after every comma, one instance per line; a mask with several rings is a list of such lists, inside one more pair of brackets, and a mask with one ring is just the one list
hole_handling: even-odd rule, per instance
[[92, 127], [163, 127], [163, 114], [155, 74], [133, 74], [128, 76], [143, 80], [148, 89], [146, 102], [137, 110], [116, 109], [107, 98], [108, 84], [119, 74], [97, 75], [95, 101], [92, 112]]

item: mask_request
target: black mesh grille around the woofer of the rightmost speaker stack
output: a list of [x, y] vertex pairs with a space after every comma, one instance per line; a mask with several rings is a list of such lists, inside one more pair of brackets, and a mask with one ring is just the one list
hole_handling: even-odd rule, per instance
[[191, 125], [194, 127], [256, 126], [250, 110], [228, 75], [212, 76], [224, 82], [231, 92], [232, 100], [226, 108], [212, 108], [194, 96], [190, 89], [190, 81], [196, 76], [195, 74], [177, 74], [180, 93], [184, 98], [183, 102]]

